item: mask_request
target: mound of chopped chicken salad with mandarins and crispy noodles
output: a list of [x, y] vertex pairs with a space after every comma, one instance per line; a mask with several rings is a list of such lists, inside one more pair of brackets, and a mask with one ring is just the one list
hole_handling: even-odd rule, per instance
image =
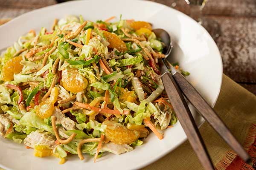
[[55, 19], [3, 52], [0, 136], [60, 164], [129, 152], [150, 130], [163, 139], [177, 122], [157, 65], [164, 44], [150, 23], [114, 18]]

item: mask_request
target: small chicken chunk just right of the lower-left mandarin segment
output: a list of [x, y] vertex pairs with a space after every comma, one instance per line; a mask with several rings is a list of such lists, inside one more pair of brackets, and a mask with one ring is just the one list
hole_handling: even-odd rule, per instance
[[54, 108], [52, 116], [56, 117], [56, 124], [61, 124], [67, 130], [74, 130], [76, 127], [76, 122], [71, 120], [68, 117], [65, 117], [65, 114], [61, 113], [61, 110], [57, 107]]

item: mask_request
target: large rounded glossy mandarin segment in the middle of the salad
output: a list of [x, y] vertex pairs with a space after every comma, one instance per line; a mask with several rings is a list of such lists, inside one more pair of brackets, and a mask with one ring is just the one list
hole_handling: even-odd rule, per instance
[[78, 93], [87, 87], [88, 81], [75, 68], [65, 69], [61, 73], [63, 87], [72, 93]]

